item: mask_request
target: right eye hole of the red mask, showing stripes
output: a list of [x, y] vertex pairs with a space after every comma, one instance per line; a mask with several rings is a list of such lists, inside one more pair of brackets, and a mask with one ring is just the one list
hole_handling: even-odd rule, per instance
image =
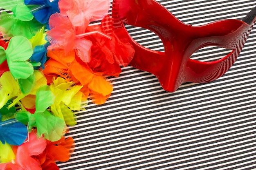
[[200, 62], [213, 62], [222, 59], [232, 51], [231, 49], [225, 49], [219, 46], [207, 46], [193, 53], [190, 59]]

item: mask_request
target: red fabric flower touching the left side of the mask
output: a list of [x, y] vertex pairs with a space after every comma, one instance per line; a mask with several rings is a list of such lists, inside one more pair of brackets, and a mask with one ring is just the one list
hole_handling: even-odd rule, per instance
[[88, 31], [100, 31], [111, 37], [110, 40], [103, 39], [100, 35], [96, 34], [90, 36], [93, 37], [91, 55], [94, 56], [92, 62], [89, 62], [90, 67], [98, 72], [108, 71], [110, 74], [106, 73], [106, 75], [116, 76], [117, 70], [114, 71], [108, 68], [107, 63], [112, 64], [112, 68], [115, 68], [117, 64], [119, 66], [127, 66], [135, 53], [126, 29], [113, 29], [113, 20], [110, 18], [110, 15], [106, 15], [101, 21], [101, 25], [88, 26]]

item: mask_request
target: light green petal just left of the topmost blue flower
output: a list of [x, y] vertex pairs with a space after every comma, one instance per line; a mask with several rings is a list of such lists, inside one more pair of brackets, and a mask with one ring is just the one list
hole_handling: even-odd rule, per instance
[[21, 21], [30, 21], [34, 18], [31, 10], [25, 4], [17, 4], [15, 7], [13, 7], [12, 11], [15, 17]]

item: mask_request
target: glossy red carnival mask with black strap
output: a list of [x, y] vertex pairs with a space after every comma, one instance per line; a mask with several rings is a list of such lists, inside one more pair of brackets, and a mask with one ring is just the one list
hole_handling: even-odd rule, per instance
[[[153, 31], [164, 52], [153, 51], [132, 39], [135, 56], [131, 66], [153, 73], [164, 90], [174, 92], [184, 82], [207, 83], [222, 76], [234, 64], [256, 20], [256, 8], [244, 19], [220, 20], [203, 26], [184, 24], [155, 0], [113, 0], [112, 18]], [[127, 32], [128, 33], [128, 32]], [[231, 49], [220, 60], [200, 62], [191, 55], [206, 46]]]

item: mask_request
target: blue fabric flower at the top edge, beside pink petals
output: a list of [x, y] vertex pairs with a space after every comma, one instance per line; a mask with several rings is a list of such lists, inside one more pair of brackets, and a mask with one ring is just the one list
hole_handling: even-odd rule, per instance
[[46, 24], [52, 14], [60, 12], [58, 8], [58, 0], [24, 0], [26, 5], [39, 5], [31, 9], [34, 17], [41, 24]]

